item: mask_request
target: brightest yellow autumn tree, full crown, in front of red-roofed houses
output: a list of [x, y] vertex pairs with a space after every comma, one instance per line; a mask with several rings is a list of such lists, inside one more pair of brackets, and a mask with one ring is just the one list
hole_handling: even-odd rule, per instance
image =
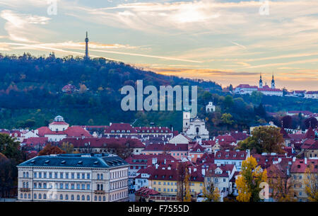
[[237, 201], [240, 202], [258, 202], [259, 193], [262, 188], [261, 183], [267, 181], [266, 169], [263, 171], [260, 166], [257, 166], [257, 161], [254, 157], [248, 157], [242, 161], [242, 171], [240, 176], [235, 181], [237, 191]]

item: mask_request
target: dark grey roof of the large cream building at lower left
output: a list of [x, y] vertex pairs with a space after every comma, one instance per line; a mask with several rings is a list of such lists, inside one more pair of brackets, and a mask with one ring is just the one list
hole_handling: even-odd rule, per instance
[[114, 154], [52, 154], [37, 156], [19, 166], [113, 168], [129, 165]]

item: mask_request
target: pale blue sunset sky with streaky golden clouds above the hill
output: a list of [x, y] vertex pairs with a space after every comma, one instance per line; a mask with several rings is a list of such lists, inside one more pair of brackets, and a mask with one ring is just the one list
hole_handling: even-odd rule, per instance
[[105, 57], [160, 74], [318, 91], [317, 0], [0, 0], [0, 53]]

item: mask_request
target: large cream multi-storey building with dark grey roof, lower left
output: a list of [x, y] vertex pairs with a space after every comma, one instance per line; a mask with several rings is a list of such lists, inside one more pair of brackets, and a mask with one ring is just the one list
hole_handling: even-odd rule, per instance
[[128, 166], [113, 154], [51, 154], [18, 165], [18, 200], [128, 201]]

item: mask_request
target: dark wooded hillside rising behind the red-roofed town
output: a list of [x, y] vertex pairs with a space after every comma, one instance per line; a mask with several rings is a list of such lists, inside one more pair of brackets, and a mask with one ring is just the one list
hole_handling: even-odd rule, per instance
[[[124, 95], [120, 89], [125, 85], [136, 87], [136, 81], [141, 79], [143, 86], [157, 88], [162, 85], [198, 86], [198, 115], [206, 120], [211, 135], [266, 123], [272, 120], [266, 111], [304, 109], [318, 112], [318, 105], [311, 100], [257, 93], [232, 96], [213, 81], [164, 76], [104, 58], [83, 60], [72, 56], [0, 54], [0, 76], [0, 128], [7, 129], [41, 127], [54, 116], [62, 115], [71, 125], [124, 122], [134, 123], [134, 126], [173, 126], [181, 130], [181, 111], [122, 111], [120, 102]], [[78, 91], [62, 92], [66, 84], [72, 84]], [[208, 101], [217, 106], [215, 113], [205, 112]]]

